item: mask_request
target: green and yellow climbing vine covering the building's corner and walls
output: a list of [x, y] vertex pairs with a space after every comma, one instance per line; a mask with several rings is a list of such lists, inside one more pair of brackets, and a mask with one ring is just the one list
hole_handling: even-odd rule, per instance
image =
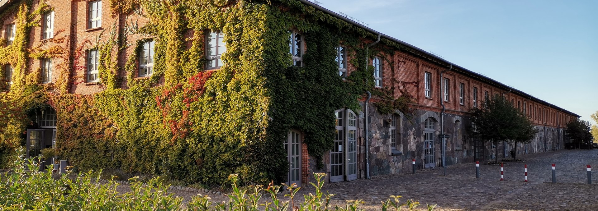
[[[376, 35], [299, 1], [109, 3], [115, 17], [146, 18], [147, 24], [128, 24], [125, 30], [114, 25], [95, 41], [77, 46], [59, 30], [45, 41], [55, 45], [28, 49], [30, 28], [51, 5], [39, 4], [29, 14], [32, 3], [23, 1], [17, 20], [28, 24], [17, 28], [16, 45], [0, 47], [0, 56], [10, 55], [0, 58], [0, 64], [16, 64], [19, 72], [4, 95], [14, 96], [13, 101], [30, 98], [23, 101], [28, 104], [14, 105], [29, 116], [53, 107], [58, 154], [79, 170], [112, 168], [206, 184], [223, 184], [230, 173], [245, 182], [281, 182], [288, 171], [283, 140], [290, 129], [303, 133], [310, 156], [322, 167], [321, 158], [335, 136], [335, 110], [361, 109], [365, 91], [382, 99], [376, 104], [381, 113], [407, 113], [411, 103], [407, 89], [401, 89], [405, 92], [398, 99], [392, 89], [374, 89], [373, 67], [365, 63], [374, 55], [388, 59], [401, 45], [383, 39], [386, 47], [366, 51], [362, 38]], [[309, 50], [304, 67], [291, 66], [288, 29], [305, 35]], [[225, 35], [224, 66], [205, 70], [204, 37], [216, 30]], [[142, 38], [130, 42], [129, 35]], [[139, 55], [148, 41], [155, 42], [154, 73], [137, 77]], [[345, 80], [335, 63], [335, 47], [341, 43], [356, 67]], [[83, 72], [81, 57], [91, 48], [100, 52], [99, 78], [105, 90], [69, 94], [78, 83], [73, 73]], [[41, 86], [39, 70], [28, 70], [26, 64], [29, 58], [50, 57], [63, 61], [57, 68], [60, 76], [55, 85]], [[126, 63], [119, 64], [119, 58]], [[52, 89], [58, 92], [47, 92]], [[7, 124], [13, 129], [2, 135], [12, 134], [18, 141], [30, 122]]]

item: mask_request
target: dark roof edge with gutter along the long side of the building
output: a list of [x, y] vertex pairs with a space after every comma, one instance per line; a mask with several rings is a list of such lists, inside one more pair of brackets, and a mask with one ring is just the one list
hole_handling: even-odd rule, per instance
[[[346, 18], [343, 15], [340, 15], [338, 13], [334, 13], [333, 11], [328, 10], [327, 8], [324, 8], [324, 7], [322, 7], [322, 6], [318, 5], [318, 4], [314, 4], [313, 2], [310, 2], [308, 0], [298, 0], [298, 1], [302, 2], [303, 4], [309, 5], [309, 6], [313, 7], [313, 8], [316, 8], [316, 10], [322, 11], [324, 13], [332, 15], [333, 17], [339, 18], [340, 20], [344, 20], [344, 21], [346, 21], [348, 23], [351, 23], [351, 24], [353, 24], [353, 25], [355, 25], [357, 27], [360, 27], [361, 29], [364, 29], [367, 32], [372, 33], [373, 36], [381, 35], [382, 38], [384, 38], [384, 39], [388, 39], [389, 41], [396, 42], [396, 43], [398, 43], [400, 45], [407, 46], [408, 48], [410, 48], [412, 50], [411, 52], [413, 52], [414, 54], [418, 54], [420, 56], [421, 56], [421, 54], [423, 54], [423, 55], [425, 55], [425, 57], [428, 57], [428, 59], [432, 58], [432, 61], [435, 61], [436, 63], [439, 63], [439, 64], [444, 65], [446, 67], [449, 67], [450, 64], [453, 64], [450, 61], [444, 60], [444, 58], [436, 57], [435, 55], [429, 53], [428, 51], [424, 51], [423, 49], [417, 48], [416, 46], [408, 44], [407, 42], [403, 42], [403, 41], [400, 41], [399, 39], [396, 39], [396, 38], [393, 38], [391, 36], [388, 36], [388, 35], [385, 35], [383, 33], [380, 33], [380, 32], [378, 32], [378, 31], [376, 31], [374, 29], [371, 29], [370, 27], [364, 26], [361, 23], [358, 23], [358, 22], [356, 22], [354, 20]], [[440, 62], [438, 62], [438, 61], [440, 61]], [[444, 63], [444, 64], [442, 64], [442, 63]], [[498, 82], [497, 80], [491, 79], [490, 77], [487, 77], [487, 76], [481, 75], [479, 73], [473, 72], [471, 70], [465, 69], [464, 67], [458, 66], [456, 64], [453, 64], [453, 70], [456, 71], [456, 72], [465, 73], [466, 75], [469, 75], [469, 76], [472, 76], [472, 77], [476, 77], [477, 79], [480, 79], [480, 80], [485, 80], [486, 82], [492, 83], [493, 85], [498, 86], [498, 88], [501, 88], [501, 89], [505, 89], [505, 90], [506, 89], [512, 89], [512, 92], [515, 92], [516, 94], [521, 95], [521, 97], [524, 97], [524, 98], [530, 97], [530, 98], [532, 98], [534, 101], [536, 101], [538, 103], [545, 104], [545, 105], [550, 105], [550, 103], [548, 103], [547, 101], [540, 100], [539, 98], [533, 97], [530, 94], [527, 94], [527, 93], [525, 93], [523, 91], [520, 91], [518, 89], [514, 89], [511, 86], [505, 85], [504, 83]], [[561, 108], [561, 107], [557, 107], [557, 106], [553, 106], [553, 107], [554, 108]], [[572, 116], [575, 116], [575, 117], [581, 117], [578, 114], [575, 114], [575, 113], [573, 113], [571, 111], [568, 111], [568, 110], [565, 110], [565, 109], [563, 109], [563, 113], [568, 113], [568, 114], [570, 114]]]

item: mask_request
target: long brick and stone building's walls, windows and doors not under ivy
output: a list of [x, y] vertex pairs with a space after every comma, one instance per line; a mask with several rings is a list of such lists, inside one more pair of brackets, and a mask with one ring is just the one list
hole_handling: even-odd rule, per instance
[[[10, 8], [11, 4], [17, 4], [16, 0], [5, 2], [0, 6], [0, 12]], [[77, 51], [77, 46], [83, 46], [84, 56], [75, 58], [77, 63], [84, 64], [84, 68], [74, 69], [71, 74], [76, 78], [69, 88], [71, 94], [94, 94], [105, 90], [98, 74], [98, 63], [100, 57], [97, 46], [98, 43], [113, 42], [109, 32], [117, 34], [126, 34], [129, 44], [119, 49], [114, 56], [117, 60], [118, 77], [131, 77], [127, 74], [133, 74], [135, 79], [147, 79], [152, 75], [154, 67], [154, 42], [151, 36], [138, 33], [125, 33], [130, 30], [127, 25], [132, 20], [139, 27], [149, 22], [147, 17], [140, 13], [115, 14], [111, 11], [110, 1], [107, 0], [81, 0], [81, 1], [63, 1], [46, 0], [51, 12], [41, 14], [39, 26], [32, 27], [29, 34], [29, 48], [39, 46], [41, 49], [49, 49], [54, 44], [47, 42], [53, 36], [68, 35], [66, 38], [71, 43], [68, 51]], [[258, 4], [266, 4], [261, 1]], [[277, 4], [284, 4], [282, 3]], [[364, 110], [350, 110], [341, 108], [334, 111], [337, 117], [337, 136], [334, 140], [334, 147], [329, 153], [324, 155], [324, 167], [318, 169], [316, 159], [309, 156], [307, 146], [302, 144], [303, 135], [301, 130], [291, 129], [288, 134], [288, 140], [285, 142], [286, 153], [288, 154], [291, 167], [288, 173], [288, 182], [306, 183], [312, 172], [325, 172], [328, 174], [330, 182], [350, 181], [357, 178], [367, 177], [367, 167], [369, 166], [369, 175], [388, 175], [393, 173], [410, 172], [411, 159], [416, 159], [417, 166], [421, 169], [426, 167], [441, 166], [440, 144], [438, 144], [438, 135], [440, 134], [440, 121], [442, 105], [446, 107], [444, 114], [444, 132], [449, 134], [447, 139], [447, 160], [446, 165], [456, 163], [473, 162], [474, 160], [492, 159], [495, 150], [498, 150], [499, 157], [510, 157], [511, 146], [502, 143], [498, 146], [492, 144], [483, 144], [480, 140], [469, 136], [467, 130], [471, 128], [469, 120], [469, 109], [475, 106], [481, 106], [485, 98], [492, 96], [504, 96], [514, 106], [523, 110], [539, 129], [538, 138], [530, 144], [521, 144], [518, 153], [537, 153], [542, 151], [559, 150], [564, 148], [565, 134], [563, 129], [565, 123], [579, 117], [577, 114], [568, 110], [550, 104], [546, 101], [526, 94], [523, 91], [513, 89], [504, 83], [490, 79], [484, 75], [452, 64], [443, 58], [435, 57], [423, 49], [417, 48], [388, 35], [383, 35], [374, 29], [370, 29], [354, 20], [338, 15], [329, 11], [314, 2], [301, 0], [292, 1], [292, 4], [302, 4], [308, 8], [320, 11], [322, 15], [334, 18], [350, 24], [355, 29], [364, 30], [365, 33], [379, 35], [383, 42], [376, 42], [371, 37], [361, 37], [360, 45], [376, 46], [384, 48], [380, 54], [374, 55], [368, 60], [368, 64], [374, 68], [373, 80], [374, 89], [388, 88], [392, 90], [395, 98], [401, 97], [398, 89], [406, 89], [414, 97], [414, 103], [410, 105], [414, 108], [414, 115], [405, 116], [401, 111], [396, 110], [392, 114], [381, 114], [377, 111], [374, 103], [383, 101], [379, 97], [372, 97], [368, 104], [368, 112]], [[33, 5], [39, 5], [35, 0]], [[282, 5], [282, 8], [292, 8], [291, 3]], [[31, 9], [33, 11], [33, 8]], [[283, 9], [284, 11], [285, 9]], [[290, 10], [290, 9], [289, 9]], [[5, 15], [0, 17], [2, 24], [2, 35], [7, 39], [7, 45], [11, 45], [14, 39], [16, 20], [14, 15]], [[112, 31], [111, 31], [112, 30]], [[60, 33], [57, 33], [60, 32]], [[291, 30], [291, 39], [289, 39], [292, 59], [295, 66], [303, 66], [303, 55], [310, 51], [310, 43], [304, 39], [300, 30]], [[185, 34], [190, 38], [187, 46], [191, 45], [191, 38], [194, 38], [194, 32]], [[226, 46], [222, 33], [207, 32], [201, 39], [205, 39], [206, 45], [211, 46], [210, 53], [205, 55], [206, 68], [218, 71], [223, 64], [220, 56], [226, 51]], [[145, 41], [144, 39], [147, 39]], [[142, 42], [136, 42], [141, 40]], [[85, 42], [84, 42], [85, 41]], [[89, 43], [86, 43], [89, 41]], [[379, 39], [380, 41], [380, 39]], [[210, 45], [211, 43], [215, 45]], [[402, 46], [398, 48], [396, 46]], [[133, 73], [127, 73], [124, 67], [127, 65], [127, 58], [133, 54], [135, 49], [141, 48], [142, 53], [136, 61], [138, 68]], [[355, 55], [347, 53], [347, 46], [337, 47], [337, 64], [339, 75], [341, 77], [350, 76], [356, 71], [353, 63], [347, 61]], [[54, 83], [60, 77], [58, 72], [53, 72], [54, 65], [64, 61], [60, 58], [44, 58], [41, 60], [30, 59], [26, 71], [34, 73], [41, 69], [41, 82]], [[159, 65], [159, 64], [156, 64]], [[12, 84], [11, 64], [6, 64], [5, 75], [7, 84]], [[441, 72], [443, 74], [440, 77]], [[339, 77], [338, 80], [342, 80]], [[401, 82], [416, 83], [414, 85], [404, 85]], [[442, 83], [441, 83], [442, 82]], [[164, 84], [162, 77], [156, 86]], [[441, 87], [442, 86], [444, 87]], [[127, 89], [127, 81], [118, 85], [120, 89]], [[366, 96], [361, 98], [361, 106], [364, 105]], [[46, 114], [51, 114], [46, 113]], [[55, 115], [55, 114], [54, 114]], [[366, 118], [367, 117], [367, 118]], [[50, 141], [56, 140], [56, 117], [53, 123], [41, 124], [40, 128], [53, 133], [45, 133], [42, 142], [46, 144], [38, 148], [44, 148]], [[48, 119], [47, 118], [47, 119]], [[46, 120], [47, 120], [46, 119]], [[367, 120], [365, 120], [367, 119]], [[43, 125], [43, 126], [41, 126]], [[367, 139], [365, 138], [364, 128], [367, 125]], [[30, 130], [29, 133], [35, 133]], [[48, 135], [54, 134], [54, 135]], [[32, 136], [31, 134], [28, 134]], [[31, 139], [33, 140], [33, 139]], [[368, 142], [368, 146], [366, 146]], [[301, 150], [298, 150], [298, 149]], [[366, 159], [366, 157], [368, 159]], [[298, 161], [301, 162], [298, 162]], [[300, 164], [298, 164], [300, 163]]]

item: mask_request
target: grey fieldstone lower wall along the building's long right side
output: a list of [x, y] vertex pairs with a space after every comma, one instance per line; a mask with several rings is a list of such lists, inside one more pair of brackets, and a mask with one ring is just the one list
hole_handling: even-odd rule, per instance
[[[358, 116], [357, 135], [358, 135], [358, 177], [365, 178], [365, 139], [364, 126], [365, 119], [363, 111], [353, 111]], [[410, 173], [411, 160], [416, 159], [417, 169], [424, 168], [424, 121], [428, 118], [435, 120], [434, 134], [435, 144], [435, 165], [442, 166], [441, 144], [438, 141], [440, 134], [440, 112], [430, 110], [415, 110], [411, 117], [405, 116], [396, 110], [393, 114], [380, 114], [376, 106], [371, 105], [369, 109], [369, 150], [370, 150], [370, 176], [389, 175], [395, 173]], [[396, 150], [401, 155], [393, 156], [393, 149], [390, 144], [390, 118], [396, 115], [400, 125], [396, 126]], [[517, 145], [517, 154], [539, 153], [550, 150], [559, 150], [564, 148], [562, 128], [537, 126], [538, 137], [529, 144], [519, 143]], [[450, 138], [446, 141], [446, 163], [455, 165], [458, 163], [474, 162], [474, 137], [468, 134], [471, 129], [471, 120], [469, 116], [455, 113], [444, 114], [444, 133], [449, 134]], [[553, 135], [554, 130], [554, 135]], [[549, 135], [545, 135], [549, 134]], [[510, 158], [510, 151], [514, 149], [507, 142], [499, 142], [498, 146], [492, 142], [484, 142], [483, 159], [480, 161], [492, 161], [495, 159], [495, 151], [498, 150], [498, 160]], [[396, 151], [395, 151], [396, 152]], [[329, 154], [323, 158], [324, 167], [316, 167], [316, 159], [309, 159], [309, 179], [304, 182], [313, 182], [313, 172], [330, 173]], [[328, 181], [328, 178], [327, 178]]]

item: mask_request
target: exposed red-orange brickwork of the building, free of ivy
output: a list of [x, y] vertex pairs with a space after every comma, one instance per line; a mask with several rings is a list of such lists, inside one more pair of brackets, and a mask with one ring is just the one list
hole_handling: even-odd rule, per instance
[[[59, 33], [57, 36], [68, 35], [68, 38], [72, 43], [71, 49], [69, 49], [70, 51], [74, 51], [75, 46], [81, 45], [83, 41], [86, 40], [90, 41], [91, 44], [84, 47], [84, 49], [91, 49], [93, 46], [98, 45], [98, 42], [106, 42], [109, 39], [109, 32], [113, 26], [116, 27], [117, 33], [120, 33], [124, 30], [127, 21], [135, 21], [139, 27], [148, 23], [147, 18], [140, 15], [131, 14], [127, 15], [128, 17], [125, 17], [126, 15], [112, 14], [109, 1], [104, 0], [102, 4], [102, 27], [89, 29], [89, 3], [92, 1], [46, 0], [46, 2], [48, 5], [50, 5], [50, 7], [53, 8], [55, 12], [54, 32], [59, 32], [62, 30], [63, 32]], [[39, 4], [39, 0], [35, 0], [35, 5], [37, 4]], [[11, 23], [14, 23], [14, 16], [9, 16], [2, 20], [2, 36], [6, 36], [6, 26]], [[100, 35], [102, 36], [100, 37]], [[191, 38], [193, 33], [190, 32], [187, 34], [187, 36], [188, 38]], [[129, 44], [132, 45], [128, 46], [120, 54], [115, 54], [116, 56], [113, 58], [113, 60], [117, 60], [118, 66], [121, 67], [121, 72], [118, 73], [120, 77], [126, 76], [126, 72], [124, 72], [124, 66], [127, 58], [129, 58], [129, 55], [132, 54], [133, 50], [136, 48], [136, 41], [144, 38], [147, 37], [143, 35], [129, 35], [127, 39], [129, 40]], [[42, 45], [41, 27], [33, 27], [29, 40], [30, 47], [41, 45], [42, 49], [47, 49], [51, 45], [56, 45], [51, 43], [45, 43]], [[373, 42], [367, 39], [362, 40], [366, 43]], [[304, 49], [309, 51], [309, 43], [306, 43], [305, 45], [306, 48]], [[383, 48], [391, 48], [389, 46], [385, 46], [383, 43], [377, 45], [380, 45]], [[117, 49], [113, 50], [114, 52], [117, 51]], [[395, 49], [395, 53], [392, 55], [378, 55], [380, 58], [382, 58], [382, 85], [391, 88], [392, 90], [405, 88], [411, 95], [413, 95], [413, 97], [415, 97], [415, 103], [413, 104], [414, 108], [439, 112], [441, 110], [440, 73], [449, 69], [449, 64], [441, 63], [437, 60], [434, 60], [434, 58], [426, 57], [423, 52], [418, 51], [418, 49]], [[347, 60], [348, 59], [349, 58], [347, 58]], [[53, 63], [62, 63], [62, 61], [56, 60]], [[86, 56], [79, 58], [79, 63], [86, 64]], [[390, 64], [393, 64], [394, 67], [391, 67]], [[30, 60], [28, 71], [32, 72], [39, 67], [40, 61], [32, 59]], [[353, 67], [351, 63], [347, 63], [347, 75], [350, 75], [351, 72], [354, 72], [355, 70], [356, 68]], [[432, 76], [432, 94], [429, 98], [425, 97], [424, 91], [424, 75], [426, 72], [431, 73]], [[53, 73], [54, 82], [56, 81], [58, 74], [59, 73], [56, 71]], [[92, 94], [94, 92], [100, 92], [103, 90], [102, 85], [98, 83], [86, 82], [86, 69], [72, 74], [75, 76], [75, 83], [71, 88], [71, 93]], [[134, 74], [137, 75], [138, 73]], [[468, 115], [469, 109], [474, 104], [473, 91], [474, 88], [477, 88], [478, 106], [481, 106], [485, 92], [488, 92], [490, 96], [504, 95], [509, 100], [512, 100], [515, 107], [520, 107], [522, 110], [526, 110], [528, 116], [536, 125], [551, 126], [553, 128], [564, 128], [566, 122], [578, 117], [576, 114], [563, 110], [562, 108], [553, 106], [537, 98], [530, 97], [530, 95], [527, 95], [523, 92], [511, 90], [507, 86], [501, 85], [492, 79], [488, 79], [487, 77], [478, 75], [477, 73], [473, 74], [472, 72], [469, 72], [469, 70], [460, 69], [460, 67], [453, 66], [453, 69], [443, 73], [443, 77], [449, 79], [450, 82], [450, 98], [449, 101], [444, 103], [444, 106], [446, 106], [446, 112], [449, 114], [462, 116]], [[405, 85], [405, 87], [402, 87], [400, 82], [416, 82], [416, 85], [409, 84]], [[463, 104], [460, 104], [459, 98], [461, 83], [465, 88]], [[124, 81], [122, 88], [127, 88], [126, 81]], [[398, 91], [395, 91], [393, 95], [394, 97], [401, 97], [401, 94]], [[373, 98], [372, 101], [375, 102], [377, 100], [380, 99]], [[360, 129], [363, 130], [362, 128], [358, 127], [358, 130]], [[364, 144], [362, 141], [362, 136], [363, 135], [359, 137], [359, 145]], [[308, 178], [312, 176], [311, 172], [313, 172], [313, 170], [310, 170], [314, 167], [313, 160], [307, 154], [307, 145], [303, 144], [302, 152], [303, 159], [301, 165], [303, 172], [301, 174], [301, 179], [303, 182], [308, 182]], [[359, 150], [359, 152], [358, 160], [361, 161], [363, 160], [363, 153], [362, 150]], [[362, 170], [363, 168], [364, 167], [362, 167], [362, 165], [359, 165], [359, 170]]]

